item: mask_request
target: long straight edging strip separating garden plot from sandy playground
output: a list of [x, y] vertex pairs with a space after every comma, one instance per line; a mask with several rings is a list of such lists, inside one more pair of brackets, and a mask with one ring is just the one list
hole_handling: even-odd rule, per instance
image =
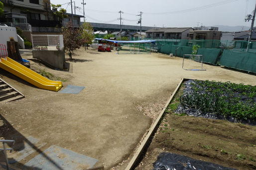
[[146, 145], [149, 142], [149, 139], [151, 138], [151, 136], [154, 134], [154, 131], [156, 130], [156, 128], [158, 128], [159, 122], [162, 118], [162, 116], [164, 115], [165, 109], [168, 107], [169, 103], [171, 102], [172, 98], [174, 97], [174, 95], [176, 94], [176, 92], [178, 91], [178, 89], [180, 88], [181, 83], [184, 80], [188, 80], [186, 78], [182, 78], [181, 81], [179, 82], [179, 84], [177, 85], [176, 89], [174, 90], [174, 92], [172, 93], [171, 97], [169, 98], [169, 100], [166, 102], [164, 108], [162, 109], [162, 112], [158, 115], [157, 119], [155, 120], [154, 124], [152, 125], [152, 127], [149, 129], [146, 137], [144, 138], [144, 140], [142, 141], [141, 145], [139, 146], [138, 150], [136, 151], [136, 153], [133, 155], [133, 157], [131, 158], [128, 166], [126, 167], [125, 170], [133, 170], [139, 159], [139, 157], [141, 156], [141, 154], [143, 153]]

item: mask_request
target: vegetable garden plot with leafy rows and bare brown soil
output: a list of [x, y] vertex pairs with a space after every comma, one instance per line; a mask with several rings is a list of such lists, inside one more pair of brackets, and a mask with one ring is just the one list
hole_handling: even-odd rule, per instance
[[136, 170], [153, 170], [153, 163], [164, 152], [255, 170], [255, 99], [256, 86], [185, 81], [166, 108]]

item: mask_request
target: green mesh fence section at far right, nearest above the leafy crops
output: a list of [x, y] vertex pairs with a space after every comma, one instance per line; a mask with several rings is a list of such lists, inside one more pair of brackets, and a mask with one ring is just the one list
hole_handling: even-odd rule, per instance
[[256, 73], [256, 54], [224, 50], [220, 65]]

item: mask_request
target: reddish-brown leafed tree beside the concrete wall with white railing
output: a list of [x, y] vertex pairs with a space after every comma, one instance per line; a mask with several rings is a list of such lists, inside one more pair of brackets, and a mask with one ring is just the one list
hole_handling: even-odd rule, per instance
[[69, 58], [72, 59], [72, 52], [79, 49], [84, 43], [81, 32], [78, 29], [73, 29], [73, 24], [69, 22], [67, 27], [62, 27], [61, 33], [64, 47], [68, 51]]

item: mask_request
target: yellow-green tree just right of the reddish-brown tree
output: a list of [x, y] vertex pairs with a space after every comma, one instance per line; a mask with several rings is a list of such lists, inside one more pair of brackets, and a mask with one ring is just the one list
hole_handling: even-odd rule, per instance
[[82, 42], [83, 45], [87, 46], [88, 44], [92, 44], [92, 41], [94, 40], [94, 34], [93, 34], [93, 26], [90, 23], [84, 22], [84, 24], [80, 29], [80, 34], [82, 35], [82, 38], [83, 38], [83, 42]]

